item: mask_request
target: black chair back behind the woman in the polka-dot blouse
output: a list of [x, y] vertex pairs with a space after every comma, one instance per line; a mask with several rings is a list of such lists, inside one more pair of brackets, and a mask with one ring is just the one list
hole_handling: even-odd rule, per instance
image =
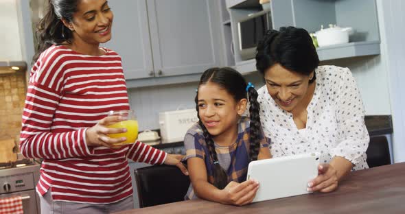
[[370, 168], [391, 164], [389, 145], [386, 136], [370, 136], [370, 143], [366, 154], [367, 164]]

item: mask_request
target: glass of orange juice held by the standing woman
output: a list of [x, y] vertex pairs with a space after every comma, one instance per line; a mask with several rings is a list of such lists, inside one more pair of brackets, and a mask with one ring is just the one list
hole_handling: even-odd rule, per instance
[[115, 145], [125, 145], [135, 143], [138, 138], [138, 121], [135, 116], [134, 110], [111, 110], [108, 112], [108, 116], [121, 116], [126, 118], [124, 121], [114, 123], [108, 126], [108, 128], [126, 128], [126, 132], [118, 134], [108, 134], [109, 137], [119, 138], [126, 137], [126, 141], [121, 143], [115, 143]]

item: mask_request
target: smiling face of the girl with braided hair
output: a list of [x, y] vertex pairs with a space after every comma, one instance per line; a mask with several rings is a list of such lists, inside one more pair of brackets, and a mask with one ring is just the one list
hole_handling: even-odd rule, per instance
[[246, 99], [235, 101], [224, 88], [213, 82], [198, 88], [198, 115], [211, 136], [237, 132], [238, 119], [246, 108]]

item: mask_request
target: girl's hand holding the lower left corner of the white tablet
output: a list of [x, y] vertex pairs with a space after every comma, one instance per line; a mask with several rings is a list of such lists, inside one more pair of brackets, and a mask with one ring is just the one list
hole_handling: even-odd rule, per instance
[[236, 206], [250, 204], [256, 196], [257, 189], [259, 189], [259, 182], [255, 180], [246, 180], [242, 183], [231, 181], [222, 189], [224, 202]]

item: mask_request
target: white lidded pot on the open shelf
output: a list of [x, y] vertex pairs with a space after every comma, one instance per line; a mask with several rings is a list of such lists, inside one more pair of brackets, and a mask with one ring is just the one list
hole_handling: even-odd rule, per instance
[[344, 44], [349, 43], [349, 32], [351, 30], [351, 27], [341, 28], [330, 24], [327, 29], [323, 29], [323, 26], [321, 26], [321, 30], [317, 31], [315, 36], [319, 47]]

